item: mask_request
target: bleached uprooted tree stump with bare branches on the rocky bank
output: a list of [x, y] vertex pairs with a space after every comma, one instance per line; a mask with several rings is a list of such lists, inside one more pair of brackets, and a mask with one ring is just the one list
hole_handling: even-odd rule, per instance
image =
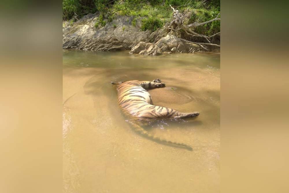
[[[188, 3], [189, 5], [190, 3]], [[206, 36], [206, 35], [202, 35], [202, 34], [198, 34], [196, 32], [193, 31], [194, 28], [198, 27], [198, 26], [202, 26], [205, 25], [207, 23], [213, 22], [213, 21], [217, 21], [217, 20], [221, 20], [221, 18], [219, 18], [220, 13], [216, 16], [216, 18], [206, 21], [206, 22], [202, 22], [202, 23], [191, 23], [191, 24], [184, 24], [184, 19], [187, 18], [190, 15], [189, 9], [190, 6], [188, 6], [186, 8], [186, 10], [184, 11], [184, 13], [180, 13], [179, 10], [175, 9], [174, 7], [172, 7], [170, 5], [170, 7], [173, 10], [173, 19], [171, 21], [171, 23], [168, 25], [167, 29], [170, 30], [170, 33], [175, 35], [176, 37], [178, 37], [178, 35], [181, 33], [181, 30], [184, 31], [187, 35], [190, 36], [197, 36], [197, 37], [203, 37], [204, 39], [206, 39], [206, 41], [208, 41], [208, 43], [198, 43], [198, 42], [192, 42], [192, 41], [188, 41], [183, 39], [186, 42], [190, 42], [190, 43], [195, 43], [198, 44], [199, 46], [201, 46], [202, 48], [204, 48], [205, 50], [208, 50], [207, 48], [205, 48], [205, 46], [203, 45], [211, 45], [211, 46], [218, 46], [220, 47], [220, 45], [217, 44], [213, 44], [211, 43], [210, 38], [214, 37], [215, 35], [220, 34], [221, 32], [218, 32], [214, 35], [211, 36]], [[181, 38], [180, 38], [181, 39]]]

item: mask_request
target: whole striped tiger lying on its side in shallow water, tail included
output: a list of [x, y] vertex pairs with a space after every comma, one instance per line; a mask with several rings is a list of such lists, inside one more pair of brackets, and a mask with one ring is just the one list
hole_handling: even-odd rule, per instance
[[143, 125], [150, 124], [151, 120], [164, 118], [196, 118], [199, 116], [199, 112], [197, 111], [192, 113], [182, 113], [167, 107], [153, 105], [151, 95], [147, 90], [165, 87], [166, 84], [162, 83], [160, 79], [155, 79], [152, 82], [131, 80], [127, 82], [111, 83], [116, 85], [119, 107], [124, 112], [124, 114], [129, 117], [129, 122], [133, 125], [133, 128], [137, 133], [160, 143], [177, 145], [179, 147], [192, 150], [190, 145], [168, 141], [166, 139], [156, 137], [151, 135], [142, 127]]

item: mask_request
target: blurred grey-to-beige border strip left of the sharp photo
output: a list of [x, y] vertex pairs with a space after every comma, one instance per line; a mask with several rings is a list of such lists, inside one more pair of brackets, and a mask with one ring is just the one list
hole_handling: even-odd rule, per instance
[[0, 6], [3, 193], [62, 192], [62, 2], [38, 3]]

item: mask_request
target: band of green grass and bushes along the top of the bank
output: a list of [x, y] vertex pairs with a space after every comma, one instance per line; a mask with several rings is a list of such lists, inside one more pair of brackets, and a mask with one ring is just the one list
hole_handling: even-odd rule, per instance
[[[75, 14], [82, 17], [88, 13], [99, 12], [95, 27], [105, 26], [116, 16], [134, 16], [131, 24], [142, 21], [141, 30], [155, 31], [172, 19], [170, 4], [180, 12], [191, 5], [192, 12], [187, 22], [208, 21], [220, 12], [220, 0], [208, 0], [205, 4], [201, 0], [63, 0], [63, 20], [72, 19]], [[124, 30], [124, 29], [123, 29]], [[220, 21], [214, 21], [194, 29], [196, 33], [212, 35], [220, 31]]]

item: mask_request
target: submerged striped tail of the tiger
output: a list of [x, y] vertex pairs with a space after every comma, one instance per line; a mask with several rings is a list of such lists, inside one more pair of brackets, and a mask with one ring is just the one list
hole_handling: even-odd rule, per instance
[[168, 141], [166, 139], [162, 139], [160, 137], [156, 137], [152, 134], [149, 134], [146, 130], [144, 130], [140, 125], [138, 124], [134, 124], [133, 125], [133, 128], [134, 128], [134, 131], [136, 131], [137, 133], [139, 133], [140, 135], [143, 135], [144, 137], [147, 137], [151, 140], [154, 140], [154, 141], [158, 141], [158, 142], [161, 142], [161, 143], [168, 143], [168, 144], [173, 144], [173, 145], [177, 145], [177, 146], [180, 146], [180, 147], [183, 147], [187, 150], [190, 150], [192, 151], [193, 148], [190, 146], [190, 145], [187, 145], [185, 143], [178, 143], [178, 142], [174, 142], [174, 141]]

